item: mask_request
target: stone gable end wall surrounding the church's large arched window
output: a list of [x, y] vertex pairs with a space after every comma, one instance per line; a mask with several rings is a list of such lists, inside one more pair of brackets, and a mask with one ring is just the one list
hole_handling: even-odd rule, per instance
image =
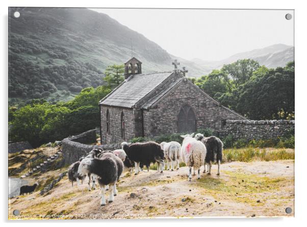
[[177, 133], [177, 117], [185, 104], [191, 106], [196, 114], [197, 129], [220, 130], [222, 120], [245, 119], [227, 108], [219, 106], [217, 102], [186, 81], [161, 99], [155, 108], [143, 112], [144, 136]]

